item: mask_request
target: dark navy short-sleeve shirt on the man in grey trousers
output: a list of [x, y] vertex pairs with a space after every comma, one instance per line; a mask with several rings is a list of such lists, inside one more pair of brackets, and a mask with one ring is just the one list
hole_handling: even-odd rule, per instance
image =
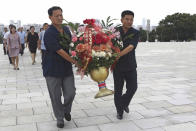
[[[64, 27], [64, 32], [71, 39], [69, 28]], [[44, 44], [46, 47], [46, 55], [42, 60], [43, 75], [51, 77], [67, 77], [73, 75], [72, 64], [57, 54], [57, 51], [63, 49], [59, 44], [60, 32], [51, 25], [44, 34]], [[65, 49], [64, 49], [65, 50]], [[65, 50], [67, 53], [68, 50]]]

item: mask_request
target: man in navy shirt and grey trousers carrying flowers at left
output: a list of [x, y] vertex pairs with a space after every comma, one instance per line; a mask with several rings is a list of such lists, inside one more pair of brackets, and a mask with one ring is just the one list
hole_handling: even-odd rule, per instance
[[[64, 49], [59, 43], [60, 33], [66, 34], [71, 39], [69, 28], [62, 27], [62, 9], [57, 6], [51, 7], [48, 15], [52, 24], [44, 34], [46, 54], [42, 60], [42, 68], [57, 119], [57, 127], [63, 128], [63, 118], [71, 120], [71, 107], [76, 94], [72, 63], [76, 64], [76, 61], [69, 56], [69, 49]], [[64, 103], [61, 101], [62, 94]]]

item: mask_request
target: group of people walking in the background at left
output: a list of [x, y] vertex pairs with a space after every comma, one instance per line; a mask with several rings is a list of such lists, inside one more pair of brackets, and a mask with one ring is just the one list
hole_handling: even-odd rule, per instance
[[36, 63], [36, 51], [41, 50], [42, 58], [45, 55], [44, 46], [44, 33], [48, 28], [48, 23], [43, 24], [40, 32], [35, 32], [35, 27], [31, 26], [30, 29], [23, 30], [23, 27], [16, 29], [16, 26], [10, 24], [9, 29], [4, 28], [3, 32], [3, 51], [4, 55], [8, 55], [10, 64], [14, 66], [14, 70], [19, 70], [19, 54], [23, 56], [25, 48], [29, 49], [32, 58], [32, 65]]

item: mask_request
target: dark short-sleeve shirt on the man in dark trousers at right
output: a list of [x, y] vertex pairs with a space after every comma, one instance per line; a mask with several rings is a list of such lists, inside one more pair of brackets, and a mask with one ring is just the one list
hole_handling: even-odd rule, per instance
[[122, 27], [119, 27], [118, 30], [120, 31], [120, 35], [123, 40], [123, 49], [125, 49], [129, 45], [133, 45], [134, 49], [126, 55], [120, 57], [115, 68], [119, 71], [130, 71], [136, 69], [137, 62], [135, 58], [135, 49], [139, 40], [139, 31], [134, 29], [133, 27], [129, 28], [126, 33], [124, 33]]

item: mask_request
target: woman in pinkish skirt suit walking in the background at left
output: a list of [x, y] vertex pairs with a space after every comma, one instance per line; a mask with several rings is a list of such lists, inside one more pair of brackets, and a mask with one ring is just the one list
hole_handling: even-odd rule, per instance
[[18, 68], [18, 55], [21, 49], [21, 44], [20, 44], [20, 37], [18, 33], [16, 32], [16, 27], [12, 26], [10, 30], [10, 34], [8, 35], [7, 39], [8, 43], [8, 50], [9, 50], [9, 55], [12, 59], [12, 63], [14, 65], [14, 70], [19, 70]]

